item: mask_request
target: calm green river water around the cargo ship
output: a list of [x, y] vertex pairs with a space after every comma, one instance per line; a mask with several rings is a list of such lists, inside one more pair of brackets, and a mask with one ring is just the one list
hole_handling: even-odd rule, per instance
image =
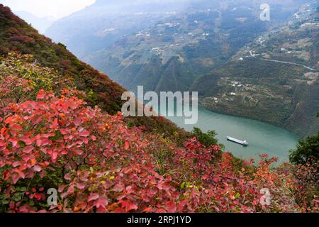
[[[289, 161], [289, 150], [296, 148], [299, 139], [284, 128], [248, 118], [217, 114], [203, 108], [198, 109], [198, 123], [195, 125], [185, 125], [184, 118], [181, 117], [167, 118], [186, 131], [191, 131], [194, 127], [201, 128], [204, 132], [216, 131], [225, 150], [245, 160], [259, 160], [259, 154], [267, 153], [270, 157], [279, 157], [278, 163]], [[226, 139], [227, 136], [247, 140], [250, 145], [244, 147], [230, 142]]]

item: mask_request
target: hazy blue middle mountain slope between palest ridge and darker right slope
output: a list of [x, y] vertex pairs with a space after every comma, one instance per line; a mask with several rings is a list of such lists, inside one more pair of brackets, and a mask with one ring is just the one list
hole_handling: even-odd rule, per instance
[[272, 2], [268, 22], [259, 18], [260, 1], [197, 1], [83, 59], [128, 89], [188, 90], [259, 34], [286, 21], [298, 2], [289, 3], [291, 8]]

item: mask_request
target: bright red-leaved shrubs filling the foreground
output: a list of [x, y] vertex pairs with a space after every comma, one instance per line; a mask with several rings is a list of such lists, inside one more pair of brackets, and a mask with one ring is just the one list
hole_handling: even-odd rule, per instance
[[[238, 169], [229, 153], [216, 159], [218, 146], [205, 148], [193, 138], [177, 148], [142, 128], [127, 128], [121, 113], [92, 109], [76, 95], [40, 91], [36, 101], [0, 106], [0, 195], [9, 199], [6, 211], [298, 211], [291, 196], [296, 178], [289, 168], [272, 169], [275, 159], [263, 156], [257, 167]], [[159, 150], [172, 153], [174, 166], [164, 165], [162, 175]], [[305, 176], [309, 168], [299, 170]], [[55, 181], [47, 183], [52, 176]], [[23, 192], [26, 199], [12, 200], [26, 182], [33, 187]], [[60, 201], [45, 209], [40, 201], [52, 184]], [[303, 191], [304, 185], [296, 185]], [[262, 188], [272, 194], [269, 206], [260, 204]]]

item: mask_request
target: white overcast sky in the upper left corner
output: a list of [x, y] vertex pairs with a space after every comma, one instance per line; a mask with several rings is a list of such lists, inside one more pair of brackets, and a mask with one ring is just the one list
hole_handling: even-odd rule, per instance
[[94, 4], [95, 0], [0, 0], [12, 11], [26, 11], [38, 17], [62, 18]]

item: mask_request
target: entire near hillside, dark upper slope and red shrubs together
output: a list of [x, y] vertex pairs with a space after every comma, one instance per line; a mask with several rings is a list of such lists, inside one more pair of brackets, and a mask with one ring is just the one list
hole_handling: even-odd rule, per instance
[[0, 27], [0, 212], [318, 211], [315, 165], [239, 160], [162, 118], [128, 127], [121, 87], [3, 6]]

